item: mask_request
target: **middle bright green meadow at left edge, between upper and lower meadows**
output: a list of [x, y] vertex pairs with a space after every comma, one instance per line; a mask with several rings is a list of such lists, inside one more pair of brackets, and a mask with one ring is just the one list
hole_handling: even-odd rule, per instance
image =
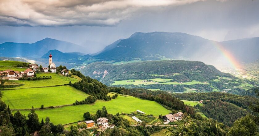
[[39, 108], [42, 104], [44, 107], [73, 104], [89, 96], [71, 86], [4, 90], [2, 93], [2, 100], [11, 109]]

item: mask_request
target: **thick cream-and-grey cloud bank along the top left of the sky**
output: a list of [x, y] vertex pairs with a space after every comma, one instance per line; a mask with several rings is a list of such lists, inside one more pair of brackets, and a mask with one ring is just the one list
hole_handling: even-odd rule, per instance
[[113, 26], [142, 8], [204, 0], [1, 0], [0, 25]]

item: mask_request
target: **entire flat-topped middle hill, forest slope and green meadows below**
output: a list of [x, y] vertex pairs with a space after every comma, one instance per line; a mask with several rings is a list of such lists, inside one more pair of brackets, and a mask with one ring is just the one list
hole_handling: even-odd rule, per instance
[[227, 91], [241, 94], [256, 86], [256, 83], [243, 81], [196, 61], [143, 61], [121, 65], [95, 62], [80, 71], [109, 86], [172, 92]]

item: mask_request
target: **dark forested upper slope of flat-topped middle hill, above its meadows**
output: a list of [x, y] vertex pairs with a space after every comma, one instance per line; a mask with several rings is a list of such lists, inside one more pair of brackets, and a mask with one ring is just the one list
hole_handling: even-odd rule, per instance
[[217, 79], [216, 76], [235, 78], [222, 73], [214, 66], [195, 61], [144, 61], [113, 65], [105, 62], [89, 64], [81, 70], [85, 75], [98, 79], [105, 84], [115, 80], [166, 78], [179, 82], [208, 81]]

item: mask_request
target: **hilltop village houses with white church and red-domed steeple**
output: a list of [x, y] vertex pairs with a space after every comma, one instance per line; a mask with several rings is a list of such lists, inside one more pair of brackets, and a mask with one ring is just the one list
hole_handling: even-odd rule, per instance
[[[61, 66], [62, 67], [62, 66]], [[22, 68], [22, 67], [21, 67]], [[64, 67], [66, 68], [66, 67]], [[8, 80], [19, 80], [20, 78], [28, 78], [28, 77], [36, 77], [36, 73], [43, 72], [43, 73], [56, 73], [57, 68], [54, 62], [52, 62], [52, 55], [49, 55], [49, 66], [42, 67], [41, 65], [38, 66], [37, 64], [29, 64], [27, 69], [24, 71], [15, 71], [11, 69], [7, 69], [4, 71], [0, 71], [1, 77], [3, 79]], [[68, 69], [62, 69], [59, 73], [63, 75], [69, 75]]]

